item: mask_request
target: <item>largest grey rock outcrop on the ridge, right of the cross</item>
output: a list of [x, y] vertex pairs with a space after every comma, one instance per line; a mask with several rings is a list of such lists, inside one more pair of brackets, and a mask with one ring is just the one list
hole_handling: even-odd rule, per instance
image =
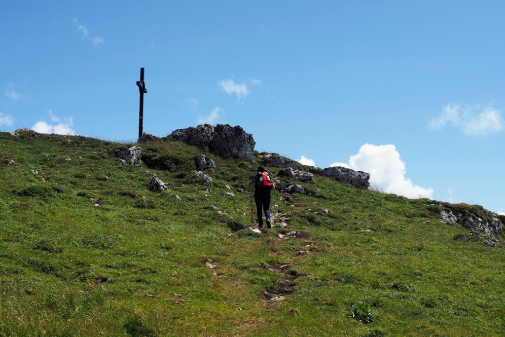
[[240, 126], [218, 124], [198, 125], [178, 129], [168, 137], [184, 141], [204, 151], [215, 153], [223, 158], [253, 161], [252, 151], [256, 145], [252, 134]]

